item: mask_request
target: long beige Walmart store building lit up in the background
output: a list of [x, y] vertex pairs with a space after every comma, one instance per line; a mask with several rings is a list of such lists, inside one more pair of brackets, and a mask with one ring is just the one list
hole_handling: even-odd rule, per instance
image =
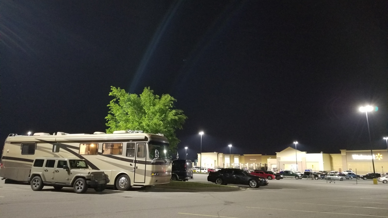
[[[295, 150], [288, 147], [283, 151], [276, 152], [276, 155], [260, 154], [224, 154], [224, 153], [202, 153], [202, 167], [204, 168], [239, 168], [244, 170], [272, 170], [272, 171], [345, 171], [353, 170], [363, 175], [373, 172], [388, 172], [388, 151], [373, 150], [340, 150], [339, 154], [312, 153]], [[195, 160], [199, 166], [201, 154]], [[384, 171], [385, 170], [385, 171]]]

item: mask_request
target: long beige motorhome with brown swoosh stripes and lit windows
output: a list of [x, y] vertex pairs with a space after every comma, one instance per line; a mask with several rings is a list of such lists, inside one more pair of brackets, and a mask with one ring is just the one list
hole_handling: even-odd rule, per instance
[[0, 161], [0, 177], [26, 182], [35, 157], [85, 159], [93, 170], [104, 171], [118, 190], [131, 186], [166, 184], [172, 161], [168, 140], [159, 134], [114, 131], [113, 134], [10, 134]]

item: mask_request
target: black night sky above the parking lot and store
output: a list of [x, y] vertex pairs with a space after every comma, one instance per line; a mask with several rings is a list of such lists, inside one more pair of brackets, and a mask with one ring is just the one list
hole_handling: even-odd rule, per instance
[[[105, 131], [110, 87], [168, 93], [180, 155], [387, 148], [387, 1], [0, 3], [0, 140]], [[2, 146], [2, 144], [0, 145]], [[0, 147], [1, 148], [1, 147]]]

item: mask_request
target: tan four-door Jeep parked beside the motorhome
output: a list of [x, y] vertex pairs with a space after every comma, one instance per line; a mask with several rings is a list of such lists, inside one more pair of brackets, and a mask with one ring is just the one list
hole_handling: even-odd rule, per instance
[[89, 187], [105, 190], [109, 178], [103, 171], [89, 169], [84, 159], [39, 157], [33, 161], [28, 181], [34, 191], [46, 185], [56, 190], [73, 187], [76, 193], [85, 193]]

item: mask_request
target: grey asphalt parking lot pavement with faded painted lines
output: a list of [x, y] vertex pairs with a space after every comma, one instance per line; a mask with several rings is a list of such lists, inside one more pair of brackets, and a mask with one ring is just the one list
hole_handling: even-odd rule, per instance
[[[204, 175], [194, 175], [203, 180]], [[1, 218], [96, 217], [383, 217], [388, 218], [388, 185], [372, 180], [270, 180], [269, 186], [236, 191], [187, 191], [168, 188], [133, 188], [129, 191], [89, 189], [76, 194], [71, 188], [0, 182]]]

